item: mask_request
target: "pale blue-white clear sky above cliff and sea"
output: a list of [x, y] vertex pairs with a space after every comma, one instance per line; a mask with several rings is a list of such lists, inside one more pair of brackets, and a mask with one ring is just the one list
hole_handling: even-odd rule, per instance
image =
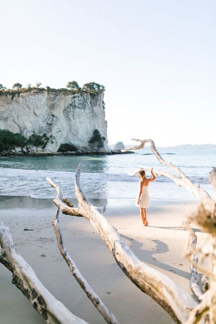
[[216, 144], [215, 13], [215, 0], [0, 0], [0, 83], [104, 85], [109, 144]]

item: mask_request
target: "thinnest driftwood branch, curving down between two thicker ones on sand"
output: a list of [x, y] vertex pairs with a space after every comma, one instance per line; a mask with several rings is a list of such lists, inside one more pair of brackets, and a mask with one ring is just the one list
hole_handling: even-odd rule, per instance
[[[52, 183], [51, 179], [47, 178], [47, 181], [54, 187], [54, 183]], [[56, 186], [57, 190], [57, 199], [58, 201], [62, 199], [62, 192], [58, 186]], [[90, 301], [93, 303], [93, 305], [96, 307], [96, 309], [100, 312], [100, 314], [103, 316], [103, 318], [106, 320], [107, 323], [109, 324], [118, 324], [118, 321], [116, 320], [115, 316], [108, 310], [108, 308], [104, 305], [100, 297], [93, 291], [93, 289], [90, 287], [90, 285], [87, 283], [85, 278], [81, 275], [79, 272], [79, 269], [77, 268], [76, 264], [74, 261], [71, 259], [70, 255], [66, 251], [63, 240], [62, 240], [62, 235], [60, 231], [60, 225], [59, 225], [59, 206], [57, 206], [56, 212], [55, 212], [55, 218], [52, 221], [52, 225], [54, 227], [55, 235], [57, 238], [57, 244], [59, 251], [66, 261], [70, 272], [72, 275], [75, 277], [77, 282], [79, 283], [80, 287], [84, 290]]]

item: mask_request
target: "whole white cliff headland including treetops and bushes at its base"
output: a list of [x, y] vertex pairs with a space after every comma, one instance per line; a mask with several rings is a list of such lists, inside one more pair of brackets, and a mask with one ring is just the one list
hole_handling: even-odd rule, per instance
[[95, 82], [60, 89], [0, 84], [0, 151], [111, 153], [104, 91]]

